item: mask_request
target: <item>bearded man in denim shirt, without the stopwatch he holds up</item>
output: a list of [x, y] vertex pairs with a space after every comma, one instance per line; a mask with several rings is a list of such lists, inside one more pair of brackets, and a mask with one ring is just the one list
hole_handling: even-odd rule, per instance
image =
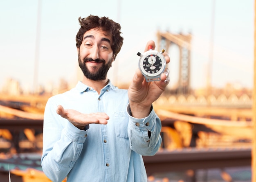
[[[84, 77], [47, 102], [43, 171], [54, 182], [146, 182], [142, 156], [155, 155], [162, 142], [152, 103], [166, 88], [168, 71], [161, 81], [146, 82], [137, 69], [129, 89], [118, 89], [107, 72], [123, 44], [121, 26], [93, 15], [79, 22], [76, 47]], [[145, 51], [149, 45], [155, 48], [149, 41]]]

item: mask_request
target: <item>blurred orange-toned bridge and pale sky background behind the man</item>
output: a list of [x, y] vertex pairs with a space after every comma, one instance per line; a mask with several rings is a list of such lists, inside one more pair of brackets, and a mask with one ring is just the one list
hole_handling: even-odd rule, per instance
[[124, 45], [108, 74], [116, 86], [128, 88], [148, 40], [170, 54], [171, 81], [154, 103], [163, 143], [144, 158], [148, 181], [251, 181], [253, 0], [0, 1], [2, 176], [8, 163], [17, 180], [30, 168], [41, 174], [31, 156], [42, 147], [44, 106], [82, 79], [75, 36], [90, 14], [121, 25]]

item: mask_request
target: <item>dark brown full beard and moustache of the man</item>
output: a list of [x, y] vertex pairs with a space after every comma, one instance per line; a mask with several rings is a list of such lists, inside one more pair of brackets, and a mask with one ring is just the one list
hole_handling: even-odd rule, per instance
[[[99, 68], [98, 71], [90, 72], [89, 69], [86, 66], [86, 62], [88, 61], [95, 61], [95, 62], [101, 62], [103, 63], [102, 66]], [[111, 59], [108, 60], [108, 64], [105, 64], [106, 61], [104, 59], [92, 59], [92, 58], [84, 58], [83, 60], [80, 57], [80, 51], [78, 54], [78, 63], [79, 67], [81, 68], [83, 75], [91, 80], [97, 81], [97, 80], [105, 80], [108, 74], [108, 70], [111, 67], [112, 61]], [[93, 69], [96, 69], [96, 67], [93, 67]]]

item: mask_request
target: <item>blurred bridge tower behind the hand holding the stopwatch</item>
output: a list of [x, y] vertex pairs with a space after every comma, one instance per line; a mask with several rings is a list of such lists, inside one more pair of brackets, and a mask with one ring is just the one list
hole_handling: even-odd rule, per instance
[[172, 44], [176, 44], [180, 51], [179, 79], [177, 94], [190, 93], [190, 59], [191, 59], [191, 34], [173, 34], [157, 31], [159, 50], [168, 50]]

